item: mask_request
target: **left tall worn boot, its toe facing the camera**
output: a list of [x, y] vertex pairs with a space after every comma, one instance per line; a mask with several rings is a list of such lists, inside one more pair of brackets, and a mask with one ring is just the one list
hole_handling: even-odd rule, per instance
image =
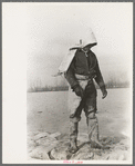
[[69, 152], [72, 153], [72, 154], [76, 153], [77, 149], [79, 149], [77, 144], [76, 144], [76, 139], [77, 139], [77, 126], [79, 126], [79, 123], [72, 123], [71, 121]]

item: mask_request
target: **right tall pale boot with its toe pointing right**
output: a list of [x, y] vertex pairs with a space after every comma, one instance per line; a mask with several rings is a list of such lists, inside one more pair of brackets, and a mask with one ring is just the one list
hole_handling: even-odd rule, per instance
[[108, 146], [104, 146], [98, 141], [98, 123], [97, 118], [93, 118], [87, 120], [89, 124], [89, 138], [91, 141], [92, 148], [100, 148], [100, 149], [110, 149]]

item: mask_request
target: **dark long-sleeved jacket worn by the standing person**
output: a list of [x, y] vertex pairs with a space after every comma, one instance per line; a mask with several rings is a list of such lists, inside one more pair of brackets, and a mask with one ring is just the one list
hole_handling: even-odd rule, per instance
[[[65, 78], [71, 88], [79, 85], [77, 79], [75, 78], [75, 74], [86, 76], [91, 79], [94, 78], [100, 88], [105, 88], [96, 56], [91, 50], [86, 55], [82, 50], [76, 50], [74, 59], [72, 60], [65, 74]], [[87, 88], [87, 90], [89, 89], [90, 88]]]

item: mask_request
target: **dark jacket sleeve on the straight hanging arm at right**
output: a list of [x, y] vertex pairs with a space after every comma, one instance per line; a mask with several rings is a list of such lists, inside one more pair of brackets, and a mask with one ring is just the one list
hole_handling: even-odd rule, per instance
[[101, 90], [103, 91], [106, 88], [105, 88], [105, 84], [104, 84], [104, 80], [103, 80], [103, 77], [102, 77], [102, 74], [101, 74], [101, 70], [100, 70], [100, 66], [98, 66], [97, 59], [96, 59], [95, 71], [96, 71], [95, 81], [100, 86]]

